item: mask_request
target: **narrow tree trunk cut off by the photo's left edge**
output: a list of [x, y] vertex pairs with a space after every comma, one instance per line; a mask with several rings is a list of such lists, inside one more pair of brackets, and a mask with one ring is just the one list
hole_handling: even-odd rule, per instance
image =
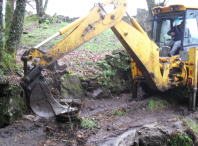
[[2, 35], [2, 30], [3, 30], [3, 0], [0, 0], [0, 65], [1, 62], [3, 61], [3, 35]]

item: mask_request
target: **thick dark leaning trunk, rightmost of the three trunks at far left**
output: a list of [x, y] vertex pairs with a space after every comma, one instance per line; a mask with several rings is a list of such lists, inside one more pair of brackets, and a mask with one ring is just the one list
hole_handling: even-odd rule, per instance
[[23, 31], [26, 0], [17, 0], [16, 9], [13, 14], [12, 23], [9, 30], [8, 40], [6, 41], [7, 52], [15, 58], [20, 37]]

